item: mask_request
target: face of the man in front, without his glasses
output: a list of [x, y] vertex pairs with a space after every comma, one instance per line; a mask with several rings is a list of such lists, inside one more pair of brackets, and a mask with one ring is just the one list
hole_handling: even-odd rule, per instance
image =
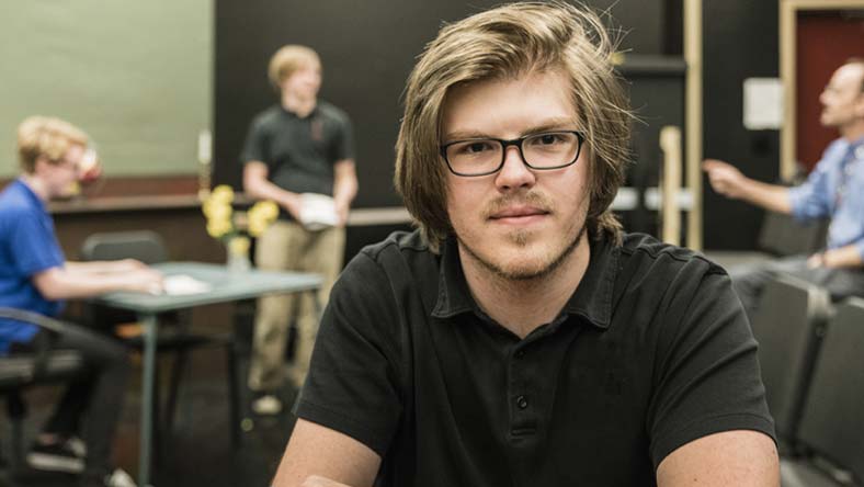
[[[455, 88], [443, 106], [441, 143], [579, 131], [569, 93], [558, 72]], [[463, 264], [468, 259], [519, 280], [543, 275], [570, 256], [588, 213], [588, 152], [583, 147], [576, 163], [565, 168], [533, 170], [510, 146], [498, 172], [462, 177], [448, 171], [447, 213]]]

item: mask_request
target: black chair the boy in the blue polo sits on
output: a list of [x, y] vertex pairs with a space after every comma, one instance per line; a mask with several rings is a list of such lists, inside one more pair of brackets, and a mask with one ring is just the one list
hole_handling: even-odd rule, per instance
[[[50, 333], [59, 333], [66, 327], [73, 327], [36, 313], [15, 308], [0, 307], [0, 318], [14, 319]], [[45, 336], [43, 336], [45, 337]], [[37, 343], [36, 351], [27, 354], [0, 356], [0, 396], [5, 398], [7, 416], [11, 423], [11, 448], [9, 464], [12, 472], [24, 465], [24, 418], [27, 406], [23, 392], [32, 386], [67, 382], [84, 372], [82, 356], [70, 350], [50, 350], [48, 340]]]

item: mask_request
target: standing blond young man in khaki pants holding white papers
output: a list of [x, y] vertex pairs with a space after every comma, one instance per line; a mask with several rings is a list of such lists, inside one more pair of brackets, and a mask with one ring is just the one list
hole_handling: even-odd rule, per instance
[[[282, 207], [278, 220], [258, 240], [260, 269], [315, 272], [323, 278], [318, 299], [326, 303], [342, 269], [348, 211], [357, 192], [351, 122], [318, 99], [321, 61], [310, 48], [284, 46], [270, 60], [270, 80], [281, 103], [258, 115], [241, 156], [243, 189]], [[303, 193], [332, 196], [336, 222], [314, 228], [302, 215]], [[283, 383], [288, 325], [297, 318], [297, 343], [288, 378], [299, 387], [309, 369], [318, 332], [318, 307], [310, 296], [273, 296], [258, 302], [249, 387], [258, 414], [282, 409], [274, 393]]]

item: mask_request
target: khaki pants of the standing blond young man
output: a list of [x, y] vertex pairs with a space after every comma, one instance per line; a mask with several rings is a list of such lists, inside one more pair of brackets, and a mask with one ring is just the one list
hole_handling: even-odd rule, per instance
[[[314, 272], [323, 278], [318, 303], [327, 304], [330, 288], [342, 269], [345, 247], [344, 228], [306, 230], [295, 222], [276, 222], [258, 239], [255, 264], [262, 270]], [[249, 388], [273, 392], [282, 386], [285, 372], [285, 344], [288, 326], [297, 319], [297, 342], [294, 364], [288, 378], [303, 385], [309, 370], [315, 336], [318, 333], [318, 313], [311, 293], [265, 296], [258, 301], [252, 358], [249, 366]]]

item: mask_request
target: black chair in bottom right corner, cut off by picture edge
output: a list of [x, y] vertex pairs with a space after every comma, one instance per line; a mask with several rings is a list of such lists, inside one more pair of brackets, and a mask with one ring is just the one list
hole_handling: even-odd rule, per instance
[[864, 299], [838, 306], [798, 429], [804, 455], [781, 461], [784, 487], [864, 485]]

